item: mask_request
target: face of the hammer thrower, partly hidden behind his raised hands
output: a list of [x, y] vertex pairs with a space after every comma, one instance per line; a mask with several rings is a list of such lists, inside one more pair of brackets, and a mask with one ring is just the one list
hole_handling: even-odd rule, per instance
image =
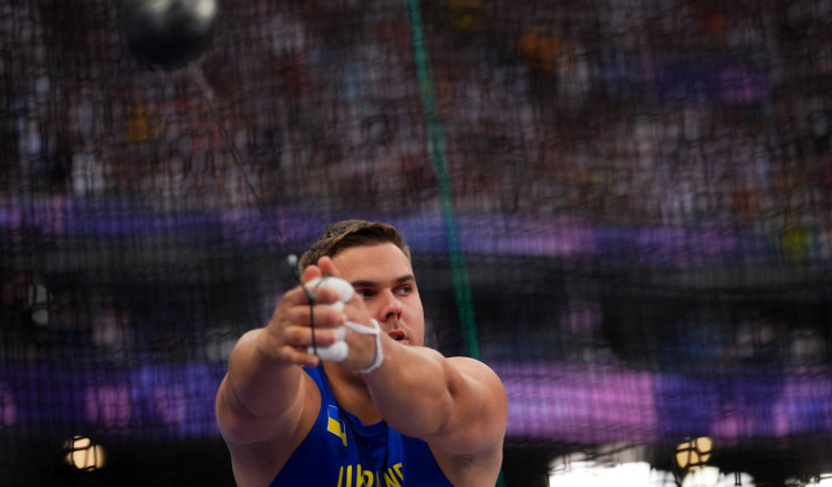
[[410, 261], [402, 250], [386, 242], [351, 247], [332, 258], [341, 277], [364, 299], [382, 330], [405, 344], [422, 345], [425, 314]]

